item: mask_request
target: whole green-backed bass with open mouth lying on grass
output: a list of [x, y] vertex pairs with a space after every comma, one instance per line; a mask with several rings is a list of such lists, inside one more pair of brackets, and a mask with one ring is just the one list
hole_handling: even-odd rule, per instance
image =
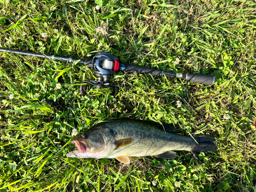
[[129, 157], [154, 156], [170, 159], [174, 151], [193, 153], [218, 150], [211, 135], [182, 136], [172, 127], [154, 121], [119, 119], [98, 123], [71, 140], [76, 150], [67, 153], [73, 158], [115, 158], [130, 164]]

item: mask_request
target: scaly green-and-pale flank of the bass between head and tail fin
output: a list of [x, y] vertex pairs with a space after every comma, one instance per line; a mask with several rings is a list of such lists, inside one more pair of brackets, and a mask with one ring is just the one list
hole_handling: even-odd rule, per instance
[[113, 150], [106, 158], [115, 158], [121, 155], [131, 157], [155, 156], [166, 151], [190, 151], [197, 145], [191, 137], [171, 134], [156, 129], [153, 124], [143, 121], [120, 121], [105, 125], [117, 133], [116, 140], [134, 139], [133, 144]]

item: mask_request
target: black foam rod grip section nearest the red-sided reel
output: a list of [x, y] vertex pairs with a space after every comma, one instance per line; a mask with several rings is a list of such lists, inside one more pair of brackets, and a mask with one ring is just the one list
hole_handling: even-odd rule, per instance
[[157, 69], [151, 69], [151, 68], [144, 68], [129, 64], [123, 64], [125, 66], [125, 69], [123, 70], [125, 73], [139, 73], [139, 74], [146, 74], [146, 75], [152, 75], [152, 76], [162, 76], [163, 71], [157, 70]]

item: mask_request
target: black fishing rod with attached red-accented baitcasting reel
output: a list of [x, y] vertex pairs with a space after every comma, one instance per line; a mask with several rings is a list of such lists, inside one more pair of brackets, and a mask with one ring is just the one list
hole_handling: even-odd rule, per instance
[[91, 84], [92, 86], [103, 87], [103, 88], [114, 87], [113, 94], [116, 96], [118, 94], [119, 89], [116, 85], [110, 84], [110, 79], [112, 76], [116, 75], [120, 71], [125, 73], [139, 73], [139, 74], [159, 76], [159, 77], [165, 75], [166, 77], [185, 79], [187, 81], [201, 83], [207, 86], [215, 83], [215, 77], [211, 75], [170, 73], [163, 70], [145, 68], [145, 67], [134, 66], [130, 64], [123, 64], [123, 63], [120, 63], [117, 57], [105, 52], [98, 52], [93, 58], [87, 58], [86, 60], [82, 60], [82, 59], [75, 59], [72, 57], [60, 57], [55, 55], [45, 55], [40, 53], [17, 51], [17, 50], [4, 49], [4, 48], [0, 48], [0, 51], [41, 57], [41, 58], [52, 59], [52, 60], [62, 60], [70, 63], [78, 62], [78, 63], [82, 63], [83, 65], [86, 65], [88, 68], [92, 68], [98, 78], [97, 82], [93, 80], [82, 81], [82, 83], [84, 84], [80, 85], [80, 91], [79, 91], [80, 95], [86, 95], [87, 86], [88, 84]]

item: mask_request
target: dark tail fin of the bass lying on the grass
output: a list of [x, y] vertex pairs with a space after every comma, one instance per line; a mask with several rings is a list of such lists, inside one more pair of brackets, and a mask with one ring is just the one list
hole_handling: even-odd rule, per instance
[[215, 138], [211, 135], [193, 135], [194, 139], [198, 142], [198, 145], [191, 150], [191, 152], [211, 152], [218, 150], [215, 144]]

